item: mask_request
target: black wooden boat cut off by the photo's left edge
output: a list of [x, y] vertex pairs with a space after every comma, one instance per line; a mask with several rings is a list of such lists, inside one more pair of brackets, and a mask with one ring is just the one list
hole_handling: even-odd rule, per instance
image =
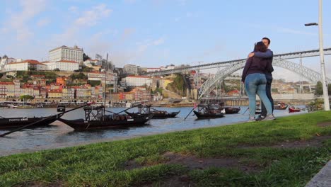
[[39, 120], [47, 118], [40, 123], [32, 125], [31, 128], [47, 126], [57, 120], [62, 115], [50, 115], [47, 117], [33, 117], [33, 118], [0, 118], [0, 129], [21, 128], [30, 123], [35, 123]]

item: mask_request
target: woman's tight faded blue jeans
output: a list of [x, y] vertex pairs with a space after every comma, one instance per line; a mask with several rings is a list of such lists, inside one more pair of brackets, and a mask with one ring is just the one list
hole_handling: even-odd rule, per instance
[[272, 105], [269, 101], [269, 98], [267, 97], [265, 90], [266, 84], [267, 84], [267, 79], [265, 78], [265, 74], [260, 74], [260, 73], [248, 74], [248, 76], [245, 79], [245, 90], [250, 102], [249, 105], [250, 118], [255, 117], [256, 94], [265, 104], [265, 108], [267, 109], [267, 115], [272, 114]]

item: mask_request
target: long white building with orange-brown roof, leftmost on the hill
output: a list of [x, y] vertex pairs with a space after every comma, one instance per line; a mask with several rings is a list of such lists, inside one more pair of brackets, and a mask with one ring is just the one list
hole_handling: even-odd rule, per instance
[[4, 65], [6, 71], [45, 71], [47, 67], [45, 64], [38, 62], [37, 60], [24, 60], [23, 62], [11, 62]]

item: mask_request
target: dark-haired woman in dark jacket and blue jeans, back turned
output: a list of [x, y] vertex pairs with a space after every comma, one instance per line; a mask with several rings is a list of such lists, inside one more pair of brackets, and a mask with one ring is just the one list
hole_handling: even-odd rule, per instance
[[[256, 43], [254, 52], [266, 51], [267, 47], [263, 42]], [[267, 109], [267, 116], [263, 120], [274, 120], [274, 115], [272, 115], [272, 104], [270, 103], [265, 90], [267, 84], [265, 72], [268, 72], [270, 68], [268, 64], [269, 63], [267, 63], [265, 59], [260, 57], [249, 57], [245, 64], [241, 81], [245, 83], [245, 90], [248, 94], [250, 103], [249, 121], [255, 121], [256, 94], [260, 97]]]

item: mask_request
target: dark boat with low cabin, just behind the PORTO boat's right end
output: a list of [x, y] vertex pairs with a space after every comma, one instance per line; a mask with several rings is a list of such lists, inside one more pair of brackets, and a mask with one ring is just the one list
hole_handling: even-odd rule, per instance
[[[168, 113], [167, 111], [159, 111], [155, 108], [151, 108], [150, 105], [139, 105], [137, 113], [129, 113], [128, 111], [124, 111], [127, 115], [132, 116], [133, 118], [139, 118], [141, 116], [148, 116], [153, 114], [153, 119], [165, 119], [165, 118], [175, 118], [180, 111]], [[151, 110], [152, 109], [152, 110]]]

